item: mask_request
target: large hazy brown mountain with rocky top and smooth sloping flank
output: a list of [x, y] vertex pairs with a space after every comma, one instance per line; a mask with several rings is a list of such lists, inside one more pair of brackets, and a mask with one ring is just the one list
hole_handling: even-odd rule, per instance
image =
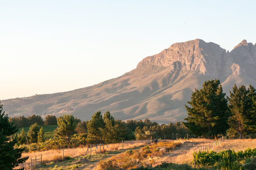
[[234, 83], [256, 86], [255, 73], [256, 45], [243, 40], [229, 52], [196, 39], [174, 43], [130, 72], [97, 85], [1, 102], [9, 116], [73, 114], [87, 120], [95, 111], [110, 110], [116, 119], [168, 123], [187, 117], [184, 104], [205, 80], [220, 79], [229, 94]]

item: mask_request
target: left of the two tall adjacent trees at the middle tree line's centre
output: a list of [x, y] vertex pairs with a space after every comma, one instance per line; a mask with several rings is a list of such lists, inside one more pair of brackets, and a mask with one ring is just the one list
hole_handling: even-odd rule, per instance
[[92, 116], [92, 119], [88, 121], [87, 129], [88, 129], [88, 142], [90, 143], [98, 143], [102, 142], [102, 133], [100, 132], [100, 128], [104, 128], [105, 123], [102, 119], [102, 114], [100, 111], [97, 111]]

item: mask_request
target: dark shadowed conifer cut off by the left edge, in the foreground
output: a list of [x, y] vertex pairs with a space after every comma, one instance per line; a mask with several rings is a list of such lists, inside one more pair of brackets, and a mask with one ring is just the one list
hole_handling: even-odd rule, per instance
[[[14, 148], [17, 138], [12, 137], [18, 129], [9, 121], [9, 117], [2, 112], [0, 105], [0, 170], [12, 170], [18, 164], [25, 162], [28, 157], [21, 158], [23, 148]], [[23, 168], [19, 169], [23, 170]]]

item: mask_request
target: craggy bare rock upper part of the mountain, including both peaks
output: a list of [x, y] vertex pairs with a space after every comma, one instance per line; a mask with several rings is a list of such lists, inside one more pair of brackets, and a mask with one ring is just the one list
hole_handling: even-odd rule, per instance
[[256, 45], [240, 42], [231, 52], [218, 44], [200, 39], [172, 44], [159, 54], [146, 57], [138, 63], [143, 65], [172, 67], [179, 63], [182, 70], [198, 71], [206, 76], [227, 77], [245, 74], [246, 65], [256, 65]]

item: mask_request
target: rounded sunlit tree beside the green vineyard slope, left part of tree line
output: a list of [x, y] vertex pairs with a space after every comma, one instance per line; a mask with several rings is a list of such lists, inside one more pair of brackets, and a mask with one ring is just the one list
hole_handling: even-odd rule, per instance
[[74, 134], [76, 129], [76, 120], [73, 115], [63, 115], [57, 119], [58, 128], [57, 135], [62, 139], [67, 139], [68, 144], [70, 144], [70, 137]]

